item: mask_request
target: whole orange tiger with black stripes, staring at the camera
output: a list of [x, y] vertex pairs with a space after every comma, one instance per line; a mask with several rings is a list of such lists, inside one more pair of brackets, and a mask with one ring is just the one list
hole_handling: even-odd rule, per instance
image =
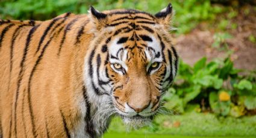
[[0, 20], [1, 137], [101, 137], [149, 125], [178, 68], [172, 5]]

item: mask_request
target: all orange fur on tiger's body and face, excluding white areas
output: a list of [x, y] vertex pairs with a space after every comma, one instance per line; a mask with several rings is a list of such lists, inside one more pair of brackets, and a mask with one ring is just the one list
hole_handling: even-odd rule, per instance
[[[114, 23], [119, 22], [114, 20], [120, 17], [130, 14], [131, 18], [140, 16], [150, 19], [158, 25], [154, 31], [162, 37], [166, 45], [164, 55], [167, 55], [167, 50], [175, 55], [166, 29], [170, 17], [157, 19], [150, 14], [135, 11], [133, 14], [111, 15], [114, 12], [125, 12], [125, 10], [104, 11], [104, 14], [108, 15], [104, 19], [97, 19], [92, 14], [87, 16], [66, 13], [44, 22], [0, 21], [2, 137], [80, 137], [76, 135], [76, 131], [86, 117], [84, 107], [86, 112], [90, 107], [87, 101], [92, 104], [92, 109], [89, 108], [89, 111], [92, 111], [89, 113], [96, 112], [96, 108], [93, 109], [95, 107], [93, 98], [84, 94], [84, 90], [87, 89], [84, 86], [84, 79], [87, 79], [84, 78], [84, 68], [89, 66], [84, 64], [86, 62], [84, 57], [89, 58], [90, 53], [95, 50], [93, 64], [97, 63], [95, 58], [97, 54], [101, 59], [107, 58], [107, 53], [102, 53], [102, 45], [108, 37], [114, 40], [117, 37], [134, 36], [134, 32], [137, 35], [149, 34], [148, 31], [138, 30], [126, 34], [121, 31], [114, 36], [114, 32], [128, 26], [129, 23], [140, 25], [137, 22], [143, 21], [143, 19], [124, 19], [123, 22], [127, 21], [127, 23], [114, 26]], [[112, 28], [109, 27], [111, 24]], [[145, 26], [150, 27], [150, 25]], [[154, 37], [158, 39], [157, 34], [154, 34]], [[146, 43], [138, 40], [136, 44]], [[127, 41], [125, 45], [132, 47], [134, 41]], [[154, 80], [159, 79], [158, 77], [165, 70], [164, 66], [154, 75], [148, 76], [145, 67], [149, 63], [142, 61], [145, 55], [140, 55], [137, 48], [130, 52], [136, 54], [128, 55], [132, 60], [126, 61], [130, 69], [125, 76], [119, 76], [114, 72], [110, 63], [105, 65], [114, 85], [122, 85], [122, 88], [116, 89], [112, 95], [118, 97], [114, 103], [120, 110], [123, 110], [122, 106], [128, 102], [135, 110], [141, 111], [152, 102], [156, 105], [152, 110], [156, 110], [160, 104], [158, 97], [161, 94], [154, 87], [156, 85]], [[178, 59], [173, 56], [172, 60]], [[103, 62], [101, 61], [100, 67], [103, 67]], [[142, 108], [136, 109], [140, 106]], [[86, 123], [89, 125], [89, 122]], [[84, 133], [86, 131], [84, 130]], [[95, 134], [95, 136], [99, 135]], [[90, 137], [90, 135], [85, 136]]]

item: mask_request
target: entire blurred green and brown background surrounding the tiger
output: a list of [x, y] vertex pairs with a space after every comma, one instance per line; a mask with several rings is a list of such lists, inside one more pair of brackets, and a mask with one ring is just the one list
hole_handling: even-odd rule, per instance
[[256, 1], [1, 0], [0, 19], [135, 8], [157, 13], [171, 2], [180, 70], [152, 125], [129, 130], [115, 117], [103, 137], [255, 137]]

